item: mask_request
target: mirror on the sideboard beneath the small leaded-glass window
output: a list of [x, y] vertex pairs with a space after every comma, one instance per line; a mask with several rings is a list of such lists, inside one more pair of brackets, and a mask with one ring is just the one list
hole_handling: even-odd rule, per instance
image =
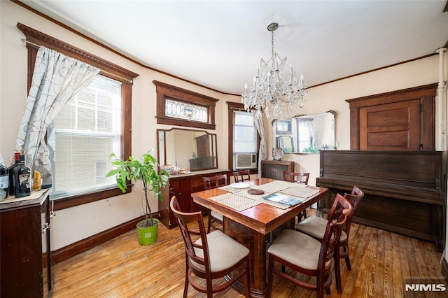
[[193, 129], [158, 129], [158, 162], [200, 171], [218, 168], [216, 134]]

